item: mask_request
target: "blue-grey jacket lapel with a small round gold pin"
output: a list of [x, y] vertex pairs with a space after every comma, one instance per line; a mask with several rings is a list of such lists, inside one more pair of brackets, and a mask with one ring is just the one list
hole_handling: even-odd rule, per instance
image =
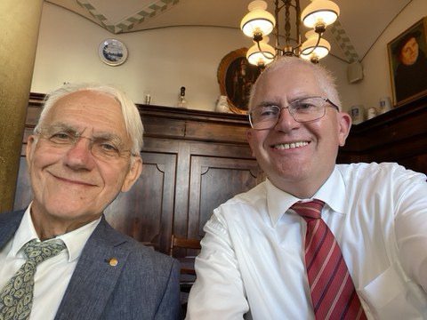
[[125, 242], [125, 237], [102, 217], [85, 244], [56, 320], [101, 317], [129, 255], [121, 247]]

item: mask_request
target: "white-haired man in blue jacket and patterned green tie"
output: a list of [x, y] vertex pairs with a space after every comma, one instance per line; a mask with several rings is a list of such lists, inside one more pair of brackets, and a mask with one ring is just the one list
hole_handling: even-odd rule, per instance
[[141, 174], [142, 133], [114, 87], [48, 95], [26, 149], [33, 201], [0, 214], [0, 319], [179, 319], [178, 261], [103, 215]]

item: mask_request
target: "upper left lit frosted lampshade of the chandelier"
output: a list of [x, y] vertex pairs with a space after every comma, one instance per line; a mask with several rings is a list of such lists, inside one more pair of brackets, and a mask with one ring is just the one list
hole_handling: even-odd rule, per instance
[[254, 37], [255, 33], [262, 36], [270, 35], [276, 20], [270, 12], [267, 12], [267, 3], [262, 0], [251, 2], [247, 8], [249, 12], [240, 22], [240, 28], [246, 36]]

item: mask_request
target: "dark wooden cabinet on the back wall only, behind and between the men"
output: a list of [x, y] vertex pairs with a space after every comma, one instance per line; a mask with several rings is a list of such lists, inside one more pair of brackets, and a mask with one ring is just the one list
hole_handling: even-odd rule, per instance
[[[31, 95], [24, 141], [36, 124], [42, 99]], [[246, 143], [246, 116], [138, 107], [145, 129], [142, 174], [105, 214], [117, 230], [166, 253], [173, 233], [202, 237], [215, 207], [264, 177]], [[22, 150], [15, 209], [31, 199]]]

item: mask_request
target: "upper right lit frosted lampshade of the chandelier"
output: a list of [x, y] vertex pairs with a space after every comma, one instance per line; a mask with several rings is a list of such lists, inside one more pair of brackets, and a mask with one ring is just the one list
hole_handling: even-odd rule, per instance
[[301, 14], [302, 23], [308, 28], [324, 24], [331, 25], [340, 15], [340, 7], [330, 0], [311, 0]]

